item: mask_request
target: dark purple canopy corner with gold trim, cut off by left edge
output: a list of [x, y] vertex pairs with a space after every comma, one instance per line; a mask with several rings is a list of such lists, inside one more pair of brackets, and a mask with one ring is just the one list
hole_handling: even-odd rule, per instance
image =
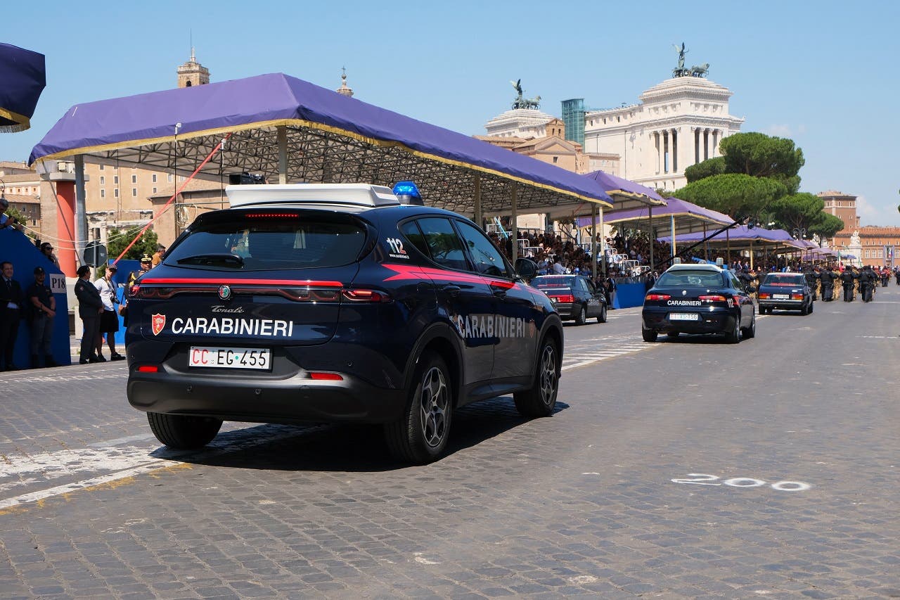
[[23, 132], [47, 85], [44, 55], [0, 43], [0, 132]]

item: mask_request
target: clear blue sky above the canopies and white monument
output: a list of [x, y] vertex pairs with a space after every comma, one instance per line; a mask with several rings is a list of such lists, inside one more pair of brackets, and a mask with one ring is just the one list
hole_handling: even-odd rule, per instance
[[192, 33], [213, 81], [284, 72], [334, 89], [347, 67], [356, 98], [467, 134], [509, 108], [511, 79], [550, 114], [572, 97], [635, 103], [684, 41], [734, 92], [743, 131], [803, 149], [802, 191], [860, 195], [864, 225], [900, 225], [898, 24], [894, 0], [32, 3], [4, 15], [0, 41], [45, 54], [48, 86], [0, 159], [27, 159], [71, 105], [174, 87]]

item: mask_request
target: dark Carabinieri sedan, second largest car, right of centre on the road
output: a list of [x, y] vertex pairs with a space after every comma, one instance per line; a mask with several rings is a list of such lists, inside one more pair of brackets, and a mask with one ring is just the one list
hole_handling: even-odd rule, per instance
[[644, 341], [656, 341], [659, 333], [725, 333], [731, 343], [752, 338], [756, 309], [750, 293], [716, 265], [672, 265], [644, 295]]

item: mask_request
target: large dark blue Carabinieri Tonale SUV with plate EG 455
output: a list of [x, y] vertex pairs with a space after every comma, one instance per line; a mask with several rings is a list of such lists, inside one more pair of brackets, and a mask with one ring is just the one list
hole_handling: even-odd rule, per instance
[[456, 408], [554, 411], [563, 324], [474, 223], [383, 186], [229, 186], [129, 290], [130, 405], [200, 448], [222, 421], [380, 423], [425, 463]]

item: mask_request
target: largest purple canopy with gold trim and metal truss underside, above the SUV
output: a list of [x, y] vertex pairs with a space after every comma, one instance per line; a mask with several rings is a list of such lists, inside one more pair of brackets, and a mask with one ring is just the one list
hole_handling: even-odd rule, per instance
[[280, 73], [73, 106], [30, 162], [89, 155], [156, 169], [177, 161], [190, 172], [228, 132], [221, 160], [198, 178], [250, 171], [280, 183], [411, 179], [428, 205], [476, 215], [611, 205], [597, 182], [563, 168]]

